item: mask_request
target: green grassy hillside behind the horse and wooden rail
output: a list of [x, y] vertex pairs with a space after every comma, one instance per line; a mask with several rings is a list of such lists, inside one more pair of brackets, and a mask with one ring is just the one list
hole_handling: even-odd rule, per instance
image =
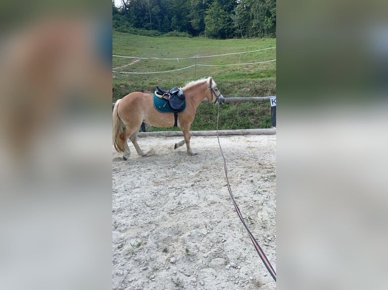
[[[179, 87], [188, 81], [207, 76], [213, 77], [225, 98], [276, 95], [276, 61], [242, 65], [274, 60], [276, 49], [209, 58], [177, 59], [255, 51], [274, 46], [276, 46], [274, 38], [215, 40], [202, 37], [147, 37], [113, 31], [113, 55], [174, 59], [139, 60], [113, 57], [113, 71], [158, 72], [197, 64], [197, 66], [169, 73], [113, 73], [113, 101], [123, 98], [132, 91], [151, 92], [156, 89], [156, 85], [166, 89]], [[201, 64], [222, 66], [198, 66]], [[240, 65], [226, 66], [230, 64]], [[191, 130], [214, 130], [216, 114], [217, 106], [209, 103], [201, 104], [197, 109]], [[226, 103], [220, 107], [220, 129], [269, 128], [270, 124], [269, 102]], [[163, 129], [147, 127], [148, 130]], [[164, 130], [173, 130], [173, 128]]]

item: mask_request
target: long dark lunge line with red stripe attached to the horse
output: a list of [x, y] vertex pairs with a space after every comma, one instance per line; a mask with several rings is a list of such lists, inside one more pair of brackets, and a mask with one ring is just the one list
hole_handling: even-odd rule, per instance
[[[212, 95], [213, 96], [213, 95]], [[212, 98], [213, 100], [213, 98]], [[239, 207], [237, 206], [236, 204], [236, 201], [235, 199], [233, 198], [233, 195], [231, 193], [231, 188], [230, 188], [230, 184], [229, 184], [229, 180], [227, 178], [227, 170], [226, 170], [226, 160], [225, 160], [225, 157], [224, 157], [224, 154], [222, 152], [222, 148], [221, 148], [221, 144], [220, 144], [220, 139], [219, 139], [219, 136], [218, 136], [218, 116], [219, 116], [219, 112], [220, 112], [220, 104], [218, 102], [218, 112], [217, 112], [217, 140], [218, 140], [218, 145], [220, 147], [220, 152], [221, 152], [221, 156], [223, 158], [223, 161], [224, 161], [224, 169], [225, 169], [225, 176], [226, 176], [226, 184], [227, 184], [227, 188], [229, 190], [229, 195], [230, 195], [230, 198], [231, 200], [233, 201], [233, 204], [235, 206], [235, 209], [236, 209], [236, 212], [237, 212], [237, 215], [239, 216], [241, 222], [243, 223], [244, 227], [246, 228], [247, 232], [248, 232], [248, 235], [249, 237], [251, 238], [252, 240], [252, 243], [253, 243], [253, 246], [255, 247], [257, 253], [259, 254], [260, 258], [261, 258], [261, 261], [263, 261], [264, 263], [264, 266], [267, 268], [269, 274], [271, 274], [271, 276], [274, 278], [275, 282], [276, 282], [276, 272], [274, 270], [274, 268], [272, 267], [271, 263], [269, 263], [267, 257], [265, 256], [263, 250], [261, 249], [260, 245], [257, 243], [257, 240], [255, 239], [255, 237], [253, 236], [253, 234], [251, 233], [251, 231], [249, 230], [247, 224], [245, 223], [245, 220], [240, 212], [240, 209]]]

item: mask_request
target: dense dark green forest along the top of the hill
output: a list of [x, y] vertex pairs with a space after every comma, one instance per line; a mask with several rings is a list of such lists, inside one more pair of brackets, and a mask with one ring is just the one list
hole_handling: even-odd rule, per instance
[[121, 0], [120, 5], [113, 1], [112, 26], [147, 36], [276, 37], [276, 1]]

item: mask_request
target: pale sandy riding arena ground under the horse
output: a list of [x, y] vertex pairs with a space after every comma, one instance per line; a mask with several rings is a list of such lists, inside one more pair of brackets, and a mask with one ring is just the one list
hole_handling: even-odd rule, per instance
[[[217, 137], [113, 152], [113, 289], [275, 289], [226, 187]], [[276, 135], [220, 137], [232, 193], [276, 270]]]

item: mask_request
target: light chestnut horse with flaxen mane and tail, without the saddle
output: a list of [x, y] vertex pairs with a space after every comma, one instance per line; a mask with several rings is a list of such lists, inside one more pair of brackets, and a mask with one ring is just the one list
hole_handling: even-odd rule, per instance
[[[175, 148], [186, 143], [187, 154], [196, 155], [190, 148], [190, 126], [196, 116], [197, 107], [203, 99], [210, 102], [223, 104], [225, 98], [219, 92], [217, 84], [211, 77], [191, 81], [181, 90], [185, 94], [186, 109], [178, 113], [178, 127], [182, 130], [184, 140], [175, 144]], [[136, 152], [140, 156], [146, 154], [140, 149], [136, 137], [141, 123], [144, 122], [155, 127], [172, 127], [174, 125], [174, 114], [158, 112], [152, 104], [152, 94], [144, 92], [131, 92], [118, 100], [113, 108], [113, 146], [119, 153], [124, 153], [124, 160], [131, 154], [127, 139], [129, 138]], [[122, 122], [126, 129], [123, 131]]]

